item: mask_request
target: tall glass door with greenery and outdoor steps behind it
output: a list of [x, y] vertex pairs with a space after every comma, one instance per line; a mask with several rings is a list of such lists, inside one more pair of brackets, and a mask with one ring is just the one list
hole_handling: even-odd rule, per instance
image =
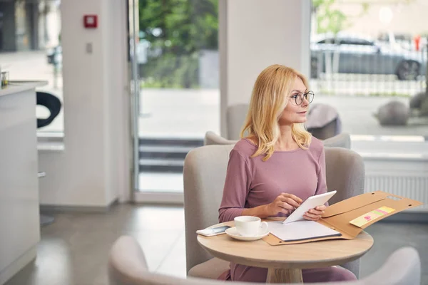
[[220, 133], [218, 0], [130, 0], [136, 200], [183, 201], [183, 162]]

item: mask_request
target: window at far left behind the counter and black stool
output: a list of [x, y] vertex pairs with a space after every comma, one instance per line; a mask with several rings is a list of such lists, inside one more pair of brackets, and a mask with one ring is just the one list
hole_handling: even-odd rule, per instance
[[[0, 67], [11, 81], [47, 81], [38, 91], [62, 92], [61, 13], [59, 0], [0, 1]], [[49, 111], [37, 106], [38, 118]], [[63, 112], [43, 128], [43, 132], [63, 132]]]

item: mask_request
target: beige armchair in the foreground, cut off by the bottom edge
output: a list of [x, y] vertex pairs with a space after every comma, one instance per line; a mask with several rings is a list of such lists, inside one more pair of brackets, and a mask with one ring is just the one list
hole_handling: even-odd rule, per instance
[[[188, 277], [180, 279], [148, 271], [146, 257], [133, 237], [119, 237], [111, 247], [108, 257], [108, 281], [110, 285], [220, 285], [223, 281]], [[360, 281], [317, 283], [317, 285], [419, 285], [421, 264], [419, 254], [412, 247], [395, 251], [380, 269]], [[233, 282], [236, 285], [260, 283]], [[297, 284], [294, 284], [297, 285]], [[314, 284], [315, 285], [315, 284]]]

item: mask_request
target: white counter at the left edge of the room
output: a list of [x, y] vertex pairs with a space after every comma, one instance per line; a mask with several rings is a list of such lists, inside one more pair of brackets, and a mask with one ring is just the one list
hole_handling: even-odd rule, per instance
[[0, 89], [0, 284], [36, 258], [40, 240], [36, 86]]

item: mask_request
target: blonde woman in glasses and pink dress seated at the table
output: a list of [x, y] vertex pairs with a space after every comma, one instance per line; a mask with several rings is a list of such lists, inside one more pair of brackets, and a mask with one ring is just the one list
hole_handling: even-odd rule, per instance
[[[238, 216], [285, 217], [312, 195], [327, 192], [325, 153], [303, 123], [314, 93], [302, 74], [287, 66], [265, 68], [255, 81], [250, 108], [228, 163], [220, 222]], [[246, 134], [246, 135], [245, 135]], [[320, 219], [325, 205], [305, 219]], [[355, 280], [342, 267], [303, 269], [304, 282]], [[265, 282], [267, 269], [230, 264], [218, 279]]]

